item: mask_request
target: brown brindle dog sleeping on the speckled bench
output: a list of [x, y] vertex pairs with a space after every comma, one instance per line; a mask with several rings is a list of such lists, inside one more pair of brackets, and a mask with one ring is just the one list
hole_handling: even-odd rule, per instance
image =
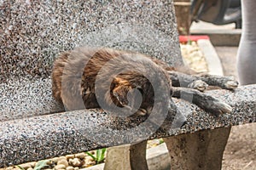
[[77, 48], [55, 59], [52, 92], [68, 111], [125, 108], [146, 115], [157, 102], [167, 102], [165, 99], [172, 102], [171, 96], [192, 95], [187, 100], [206, 111], [230, 113], [230, 105], [200, 91], [207, 89], [207, 85], [232, 90], [238, 83], [230, 77], [191, 73], [144, 54], [110, 48]]

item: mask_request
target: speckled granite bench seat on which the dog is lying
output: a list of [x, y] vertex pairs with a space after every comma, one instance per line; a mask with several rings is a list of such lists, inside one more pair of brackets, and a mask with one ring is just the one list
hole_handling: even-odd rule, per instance
[[[108, 127], [106, 122], [111, 116], [104, 111], [62, 112], [63, 107], [51, 96], [50, 84], [50, 79], [1, 84], [0, 167], [142, 140], [143, 131], [119, 133], [118, 127], [131, 122], [116, 123], [117, 129]], [[230, 104], [234, 108], [232, 113], [212, 116], [196, 105], [175, 99], [188, 124], [182, 129], [170, 127], [165, 132], [157, 131], [148, 139], [256, 122], [255, 85], [237, 88], [235, 93], [227, 90], [207, 93]]]

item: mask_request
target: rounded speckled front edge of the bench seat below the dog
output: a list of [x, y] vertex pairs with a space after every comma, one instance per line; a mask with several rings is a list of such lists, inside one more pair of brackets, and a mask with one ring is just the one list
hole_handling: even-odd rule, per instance
[[[179, 110], [187, 115], [188, 124], [182, 129], [169, 127], [165, 131], [157, 131], [149, 139], [180, 133], [193, 133], [201, 129], [256, 122], [255, 85], [238, 88], [235, 93], [226, 90], [208, 93], [233, 106], [232, 113], [212, 116], [195, 105], [189, 105], [188, 102], [176, 99], [175, 102]], [[48, 95], [50, 96], [50, 94]], [[1, 111], [1, 115], [3, 113]], [[77, 153], [99, 147], [128, 144], [143, 139], [143, 134], [147, 131], [147, 129], [142, 128], [134, 133], [120, 133], [119, 129], [127, 128], [131, 122], [139, 121], [123, 120], [119, 123], [119, 129], [116, 129], [109, 124], [110, 120], [113, 120], [113, 117], [108, 113], [90, 110], [32, 116], [0, 122], [0, 166]], [[16, 159], [13, 159], [14, 157]]]

